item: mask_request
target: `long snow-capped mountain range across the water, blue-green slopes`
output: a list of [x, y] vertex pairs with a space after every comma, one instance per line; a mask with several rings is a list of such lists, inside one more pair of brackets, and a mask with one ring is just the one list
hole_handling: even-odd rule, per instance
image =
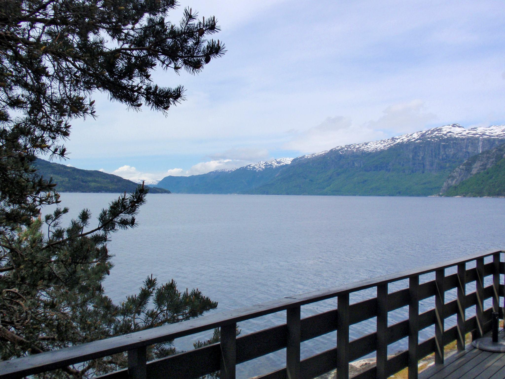
[[[502, 144], [505, 125], [466, 129], [451, 124], [294, 159], [275, 159], [202, 175], [167, 176], [158, 186], [174, 193], [199, 194], [465, 196], [451, 188], [475, 186], [476, 182], [464, 182], [487, 175], [482, 172], [493, 167], [500, 172], [495, 167], [500, 153], [484, 153]], [[494, 163], [484, 164], [491, 156]], [[465, 171], [463, 164], [475, 167]], [[464, 171], [467, 174], [461, 176]], [[486, 177], [489, 175], [481, 182]], [[488, 196], [485, 192], [479, 194]]]

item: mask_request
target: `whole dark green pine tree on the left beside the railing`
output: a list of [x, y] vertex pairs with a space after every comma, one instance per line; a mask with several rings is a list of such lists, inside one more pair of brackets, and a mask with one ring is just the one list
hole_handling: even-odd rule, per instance
[[[2, 0], [0, 2], [0, 354], [11, 359], [197, 317], [217, 307], [198, 290], [148, 276], [139, 293], [114, 304], [101, 285], [113, 267], [111, 234], [136, 226], [147, 188], [124, 194], [98, 215], [83, 210], [66, 227], [56, 183], [33, 167], [38, 156], [66, 156], [72, 119], [95, 117], [102, 91], [128, 108], [167, 114], [182, 86], [150, 73], [192, 74], [224, 54], [214, 17], [186, 9], [167, 21], [175, 0]], [[175, 352], [160, 344], [156, 358]], [[125, 356], [67, 367], [54, 377], [85, 377], [125, 366]]]

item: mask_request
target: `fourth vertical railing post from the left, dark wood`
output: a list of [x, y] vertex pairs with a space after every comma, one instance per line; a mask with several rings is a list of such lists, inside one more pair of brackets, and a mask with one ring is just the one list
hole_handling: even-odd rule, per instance
[[349, 294], [337, 300], [337, 379], [349, 378]]

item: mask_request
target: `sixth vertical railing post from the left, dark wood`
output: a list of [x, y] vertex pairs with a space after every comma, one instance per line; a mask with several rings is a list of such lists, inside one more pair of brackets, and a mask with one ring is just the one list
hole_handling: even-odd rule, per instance
[[409, 379], [418, 377], [419, 345], [419, 275], [409, 278]]

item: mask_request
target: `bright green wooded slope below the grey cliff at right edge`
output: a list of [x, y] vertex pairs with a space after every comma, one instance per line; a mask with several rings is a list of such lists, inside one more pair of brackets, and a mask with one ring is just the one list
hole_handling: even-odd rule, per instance
[[447, 189], [444, 196], [505, 196], [505, 158]]

